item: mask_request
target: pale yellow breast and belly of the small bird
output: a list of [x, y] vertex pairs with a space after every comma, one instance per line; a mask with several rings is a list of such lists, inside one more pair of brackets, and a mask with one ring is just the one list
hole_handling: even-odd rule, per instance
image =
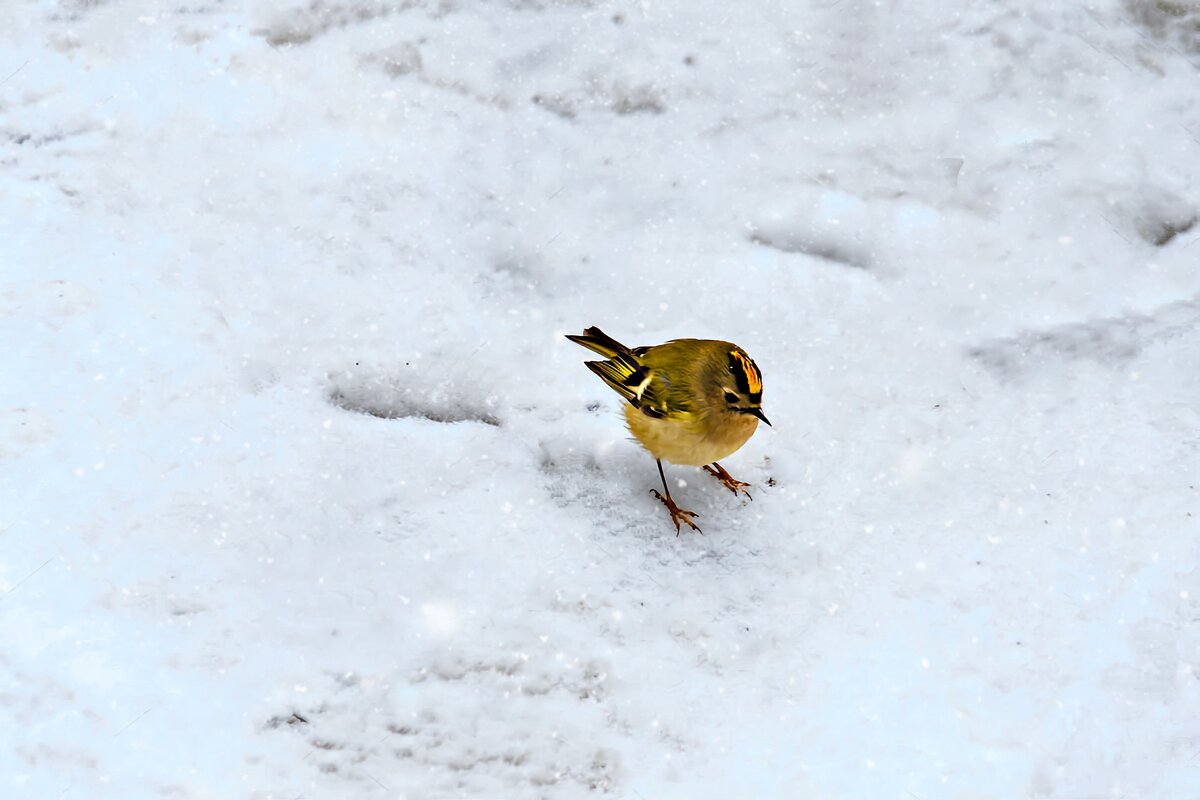
[[672, 464], [703, 467], [730, 456], [754, 435], [758, 420], [749, 414], [714, 411], [713, 416], [655, 419], [632, 405], [625, 407], [625, 422], [643, 447], [655, 458]]

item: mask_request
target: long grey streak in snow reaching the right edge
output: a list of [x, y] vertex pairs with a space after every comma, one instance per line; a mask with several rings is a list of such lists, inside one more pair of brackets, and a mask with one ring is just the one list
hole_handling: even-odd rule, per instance
[[1175, 338], [1200, 325], [1200, 296], [1162, 306], [1150, 314], [1126, 314], [1025, 331], [971, 348], [967, 355], [986, 369], [1016, 378], [1048, 361], [1081, 361], [1118, 366], [1156, 342]]

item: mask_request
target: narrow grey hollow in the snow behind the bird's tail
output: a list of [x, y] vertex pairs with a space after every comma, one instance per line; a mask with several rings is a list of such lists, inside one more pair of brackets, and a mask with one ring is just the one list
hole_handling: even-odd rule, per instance
[[368, 414], [380, 420], [421, 419], [432, 422], [482, 422], [499, 426], [500, 420], [473, 392], [452, 386], [425, 389], [413, 377], [408, 385], [398, 375], [343, 373], [330, 375], [326, 399], [336, 408]]

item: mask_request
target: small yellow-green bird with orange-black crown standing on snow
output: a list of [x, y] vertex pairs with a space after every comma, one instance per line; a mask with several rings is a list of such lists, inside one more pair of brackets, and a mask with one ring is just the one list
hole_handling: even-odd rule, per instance
[[[625, 422], [630, 433], [659, 463], [662, 492], [650, 493], [671, 512], [679, 535], [680, 523], [700, 531], [692, 518], [671, 499], [662, 459], [672, 464], [703, 467], [737, 494], [750, 493], [716, 462], [744, 445], [762, 413], [762, 374], [745, 350], [714, 339], [672, 339], [665, 344], [628, 348], [599, 327], [568, 336], [607, 361], [586, 361], [618, 395], [629, 401]], [[754, 498], [751, 498], [754, 499]]]

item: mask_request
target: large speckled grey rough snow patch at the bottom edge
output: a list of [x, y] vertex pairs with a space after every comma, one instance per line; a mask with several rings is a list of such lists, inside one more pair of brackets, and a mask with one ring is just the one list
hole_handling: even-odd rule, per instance
[[[427, 705], [397, 706], [388, 686], [391, 679], [368, 679], [352, 687], [329, 684], [317, 690], [330, 697], [316, 712], [319, 716], [286, 711], [268, 720], [263, 729], [300, 734], [308, 747], [304, 769], [347, 781], [367, 776], [380, 786], [406, 777], [419, 780], [430, 796], [503, 796], [497, 794], [498, 784], [607, 792], [619, 777], [619, 756], [576, 735], [570, 723], [563, 735], [530, 735], [518, 727], [520, 715], [516, 726], [492, 717], [482, 726], [485, 735], [466, 735], [463, 715], [472, 714], [468, 710], [479, 697], [500, 691], [522, 694], [526, 708], [539, 704], [559, 714], [571, 709], [584, 715], [602, 712], [596, 687], [607, 678], [606, 664], [583, 661], [565, 669], [562, 664], [533, 666], [546, 662], [512, 657], [468, 663], [458, 657], [444, 668], [422, 669], [414, 682], [436, 684], [428, 692], [445, 702], [437, 711]], [[534, 691], [528, 691], [530, 687]], [[364, 727], [365, 709], [371, 709], [378, 722]], [[486, 716], [484, 710], [474, 714]], [[362, 770], [368, 760], [378, 778]]]

